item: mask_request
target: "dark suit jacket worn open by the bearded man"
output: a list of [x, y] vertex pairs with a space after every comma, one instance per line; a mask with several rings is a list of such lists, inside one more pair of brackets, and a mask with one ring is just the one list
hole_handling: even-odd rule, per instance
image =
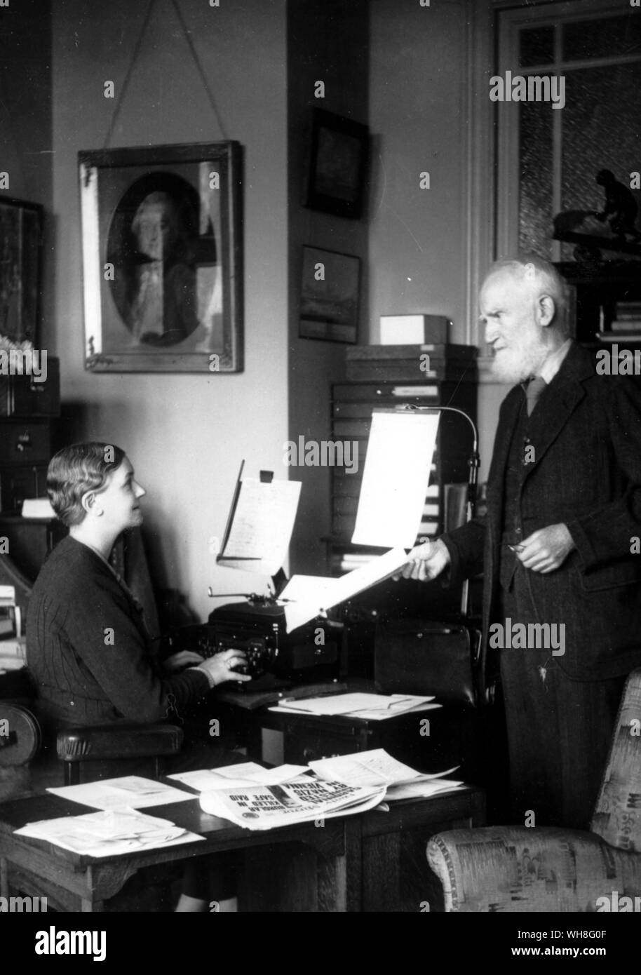
[[[442, 536], [452, 578], [485, 573], [485, 646], [490, 624], [499, 622], [506, 465], [523, 400], [515, 386], [501, 406], [487, 515]], [[536, 621], [565, 624], [565, 654], [555, 660], [569, 678], [626, 674], [641, 665], [641, 555], [630, 552], [641, 535], [641, 390], [625, 376], [597, 375], [573, 343], [530, 417], [528, 437], [535, 460], [520, 488], [522, 537], [562, 522], [576, 545], [556, 570], [529, 572]]]

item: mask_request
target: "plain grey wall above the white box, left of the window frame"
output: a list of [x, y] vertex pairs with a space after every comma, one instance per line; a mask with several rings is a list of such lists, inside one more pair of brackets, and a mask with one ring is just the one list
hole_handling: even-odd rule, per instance
[[372, 341], [381, 315], [411, 312], [449, 316], [465, 341], [467, 8], [370, 5]]

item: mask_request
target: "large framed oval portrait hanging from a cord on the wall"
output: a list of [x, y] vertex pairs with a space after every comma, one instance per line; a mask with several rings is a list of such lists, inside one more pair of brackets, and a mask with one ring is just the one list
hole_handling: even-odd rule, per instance
[[238, 142], [80, 152], [86, 369], [243, 370]]

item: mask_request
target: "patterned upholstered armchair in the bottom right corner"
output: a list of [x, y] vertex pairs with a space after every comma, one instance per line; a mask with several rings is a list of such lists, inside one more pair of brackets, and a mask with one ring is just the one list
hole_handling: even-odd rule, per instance
[[451, 830], [430, 839], [428, 861], [446, 911], [632, 911], [641, 897], [641, 669], [625, 683], [589, 832]]

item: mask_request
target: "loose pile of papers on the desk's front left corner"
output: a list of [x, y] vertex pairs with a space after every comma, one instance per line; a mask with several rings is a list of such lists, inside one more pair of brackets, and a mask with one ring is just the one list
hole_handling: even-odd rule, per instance
[[146, 816], [133, 809], [45, 819], [23, 826], [21, 830], [16, 830], [15, 836], [45, 839], [73, 853], [95, 857], [118, 856], [121, 853], [204, 839], [196, 833], [174, 826], [167, 819]]

